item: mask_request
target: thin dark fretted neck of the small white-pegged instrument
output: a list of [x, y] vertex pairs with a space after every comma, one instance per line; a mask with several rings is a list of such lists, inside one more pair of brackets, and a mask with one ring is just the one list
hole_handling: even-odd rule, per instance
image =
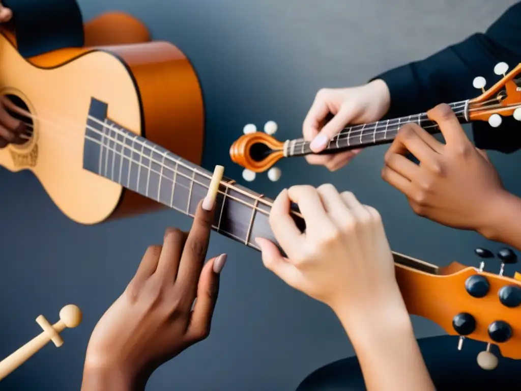
[[[468, 123], [467, 107], [468, 101], [454, 102], [450, 104], [452, 110], [456, 114], [461, 124]], [[398, 135], [399, 129], [408, 123], [414, 123], [431, 134], [438, 133], [439, 127], [434, 121], [431, 121], [427, 113], [410, 115], [407, 117], [386, 119], [376, 121], [369, 124], [349, 126], [339, 133], [327, 144], [324, 151], [319, 154], [337, 153], [365, 146], [379, 145], [390, 143]], [[309, 148], [309, 141], [304, 139], [287, 140], [284, 143], [283, 150], [285, 157], [304, 156], [313, 154]]]

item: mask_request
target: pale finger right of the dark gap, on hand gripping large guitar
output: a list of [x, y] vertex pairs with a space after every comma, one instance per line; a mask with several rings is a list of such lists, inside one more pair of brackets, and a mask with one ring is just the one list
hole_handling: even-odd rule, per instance
[[299, 210], [306, 222], [306, 230], [312, 231], [329, 230], [334, 228], [318, 191], [312, 186], [292, 186], [288, 189], [288, 197], [291, 201], [299, 205]]

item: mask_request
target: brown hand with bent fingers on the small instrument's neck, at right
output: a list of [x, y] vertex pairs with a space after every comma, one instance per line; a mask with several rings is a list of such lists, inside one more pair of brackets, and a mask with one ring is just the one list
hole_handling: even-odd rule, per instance
[[[427, 115], [439, 125], [446, 144], [416, 124], [404, 125], [385, 155], [382, 177], [405, 194], [419, 216], [483, 234], [495, 200], [504, 192], [501, 179], [450, 106], [438, 105]], [[419, 165], [404, 156], [409, 152]]]

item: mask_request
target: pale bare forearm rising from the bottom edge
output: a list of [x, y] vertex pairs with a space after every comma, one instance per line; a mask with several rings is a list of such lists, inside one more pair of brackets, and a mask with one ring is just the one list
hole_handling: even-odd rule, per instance
[[368, 390], [435, 390], [403, 299], [357, 316], [339, 314]]

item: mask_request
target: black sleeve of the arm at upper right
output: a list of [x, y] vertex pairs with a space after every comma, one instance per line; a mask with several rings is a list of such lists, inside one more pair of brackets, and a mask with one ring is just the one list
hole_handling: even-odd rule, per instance
[[[508, 64], [509, 70], [521, 63], [521, 2], [508, 8], [485, 33], [476, 33], [426, 59], [384, 72], [375, 79], [386, 82], [391, 105], [386, 118], [422, 113], [439, 103], [472, 99], [481, 92], [473, 80], [482, 76], [488, 87], [502, 76], [494, 66]], [[521, 123], [503, 118], [498, 128], [477, 121], [474, 142], [480, 149], [511, 153], [521, 149]]]

